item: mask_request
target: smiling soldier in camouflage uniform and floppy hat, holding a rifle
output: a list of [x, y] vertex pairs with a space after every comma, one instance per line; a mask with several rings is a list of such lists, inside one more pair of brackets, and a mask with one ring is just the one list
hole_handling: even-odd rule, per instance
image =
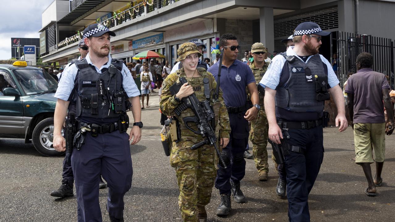
[[[201, 56], [194, 43], [183, 43], [177, 50], [177, 61], [182, 62], [182, 68], [175, 73], [171, 73], [164, 79], [162, 84], [162, 95], [160, 100], [160, 110], [167, 116], [174, 116], [179, 121], [181, 128], [181, 138], [173, 138], [173, 146], [170, 154], [170, 165], [175, 168], [178, 186], [180, 190], [179, 207], [184, 221], [206, 222], [207, 213], [205, 205], [210, 202], [211, 192], [216, 177], [216, 166], [218, 157], [213, 146], [203, 145], [198, 149], [190, 149], [192, 145], [203, 140], [201, 135], [195, 134], [187, 129], [183, 119], [194, 116], [191, 109], [182, 111], [178, 116], [174, 109], [182, 100], [195, 93], [199, 101], [206, 100], [204, 88], [216, 88], [216, 81], [213, 75], [204, 68], [197, 68], [198, 60]], [[180, 77], [185, 77], [188, 83], [180, 88], [176, 95], [171, 95], [169, 88], [179, 81]], [[207, 78], [207, 84], [203, 84], [203, 79]], [[229, 142], [230, 125], [228, 111], [226, 110], [222, 92], [219, 101], [212, 104], [215, 113], [216, 136], [219, 138], [220, 149], [226, 147]], [[174, 127], [173, 121], [170, 127]], [[197, 130], [196, 125], [191, 126]]]

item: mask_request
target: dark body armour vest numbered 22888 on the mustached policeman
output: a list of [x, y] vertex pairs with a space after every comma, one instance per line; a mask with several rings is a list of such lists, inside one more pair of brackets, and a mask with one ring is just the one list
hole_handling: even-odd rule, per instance
[[98, 73], [84, 58], [75, 61], [78, 68], [75, 87], [76, 117], [84, 119], [119, 118], [126, 111], [125, 93], [122, 87], [122, 61], [111, 60], [103, 73]]

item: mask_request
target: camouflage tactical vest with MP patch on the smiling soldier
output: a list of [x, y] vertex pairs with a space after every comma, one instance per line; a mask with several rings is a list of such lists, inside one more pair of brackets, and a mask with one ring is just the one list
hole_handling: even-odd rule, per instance
[[[186, 75], [184, 73], [184, 68], [181, 68], [180, 70], [177, 70], [176, 73], [177, 73], [177, 75], [179, 77], [185, 77], [186, 78], [186, 80], [188, 81], [188, 84], [193, 87], [194, 93], [195, 93], [196, 97], [198, 98], [198, 100], [200, 102], [203, 102], [203, 101], [206, 100], [205, 93], [204, 93], [205, 92], [205, 86], [209, 87], [209, 90], [213, 89], [214, 88], [214, 83], [213, 83], [214, 77], [213, 76], [210, 77], [209, 76], [210, 74], [207, 73], [207, 71], [205, 69], [203, 69], [203, 68], [197, 68], [197, 70], [199, 71], [201, 77], [195, 77], [195, 78], [192, 78], [192, 79], [186, 77]], [[205, 78], [207, 78], [209, 80], [207, 84], [203, 83], [203, 79], [205, 79]], [[177, 79], [177, 81], [178, 81], [178, 79]], [[215, 102], [214, 104], [211, 104], [211, 105], [213, 105], [213, 108], [214, 108], [214, 113], [215, 113], [215, 132], [216, 132], [216, 135], [218, 136], [218, 132], [219, 132], [218, 114], [219, 114], [219, 109], [220, 109], [221, 103], [218, 101], [218, 102]], [[192, 137], [198, 136], [197, 134], [194, 134], [192, 131], [190, 131], [188, 128], [186, 128], [185, 122], [183, 120], [185, 117], [194, 117], [194, 116], [195, 116], [195, 113], [190, 108], [182, 111], [181, 115], [177, 116], [177, 119], [180, 122], [182, 137], [184, 136], [184, 138], [185, 138], [185, 136], [188, 137], [189, 135], [192, 136]], [[193, 130], [198, 130], [198, 128], [196, 127], [195, 124], [189, 124], [188, 126], [190, 126], [190, 128], [192, 128]]]

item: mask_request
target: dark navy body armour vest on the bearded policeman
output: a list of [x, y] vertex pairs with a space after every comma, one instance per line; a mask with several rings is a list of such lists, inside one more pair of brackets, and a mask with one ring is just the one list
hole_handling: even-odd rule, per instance
[[284, 70], [284, 66], [282, 73], [288, 72], [289, 79], [276, 88], [276, 107], [295, 113], [322, 112], [324, 100], [330, 97], [327, 98], [328, 74], [320, 55], [312, 56], [307, 63], [295, 56], [283, 56], [287, 59], [288, 70]]

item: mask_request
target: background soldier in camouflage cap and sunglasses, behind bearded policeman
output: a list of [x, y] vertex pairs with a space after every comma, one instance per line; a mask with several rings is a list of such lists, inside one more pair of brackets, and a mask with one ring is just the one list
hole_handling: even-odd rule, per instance
[[[250, 63], [252, 73], [254, 73], [255, 81], [259, 83], [265, 75], [269, 62], [265, 62], [267, 48], [260, 42], [254, 43], [251, 47], [251, 53], [254, 61]], [[254, 156], [255, 166], [258, 169], [258, 179], [267, 181], [267, 173], [269, 172], [269, 164], [267, 164], [267, 137], [269, 124], [267, 123], [266, 113], [263, 106], [263, 93], [259, 93], [259, 103], [261, 109], [258, 117], [251, 121], [250, 140], [252, 142], [252, 155]]]

